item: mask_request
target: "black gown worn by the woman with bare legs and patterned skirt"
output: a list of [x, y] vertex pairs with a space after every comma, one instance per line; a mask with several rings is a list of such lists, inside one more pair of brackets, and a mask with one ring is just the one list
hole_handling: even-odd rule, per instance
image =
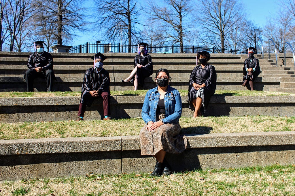
[[[205, 84], [206, 86], [200, 88], [198, 91], [193, 87], [193, 83]], [[206, 65], [202, 68], [201, 65], [196, 66], [191, 72], [189, 78], [189, 93], [187, 95], [189, 108], [195, 110], [194, 105], [191, 101], [197, 97], [202, 99], [201, 113], [205, 114], [206, 108], [209, 104], [210, 97], [215, 93], [216, 90], [216, 71], [214, 66]]]

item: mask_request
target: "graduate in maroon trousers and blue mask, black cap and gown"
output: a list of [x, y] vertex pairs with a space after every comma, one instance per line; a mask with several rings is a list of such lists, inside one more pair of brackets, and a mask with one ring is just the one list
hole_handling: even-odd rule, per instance
[[83, 120], [86, 106], [90, 107], [97, 98], [103, 100], [103, 120], [110, 120], [110, 77], [109, 72], [102, 67], [107, 57], [99, 52], [91, 58], [94, 60], [94, 65], [87, 69], [84, 75], [78, 120]]

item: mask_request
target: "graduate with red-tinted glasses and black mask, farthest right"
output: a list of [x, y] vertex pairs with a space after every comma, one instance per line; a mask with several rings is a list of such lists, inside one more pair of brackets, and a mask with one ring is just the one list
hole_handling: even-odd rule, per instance
[[244, 76], [242, 86], [246, 86], [246, 83], [249, 81], [250, 89], [251, 91], [253, 91], [253, 82], [260, 74], [259, 61], [258, 58], [254, 57], [254, 52], [256, 51], [256, 48], [249, 47], [246, 49], [246, 51], [248, 52], [248, 58], [246, 58], [244, 61]]

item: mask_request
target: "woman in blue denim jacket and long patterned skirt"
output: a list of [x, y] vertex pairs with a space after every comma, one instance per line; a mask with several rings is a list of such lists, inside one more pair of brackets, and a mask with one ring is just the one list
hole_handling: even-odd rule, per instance
[[167, 69], [159, 69], [155, 77], [158, 86], [146, 93], [142, 106], [141, 115], [146, 125], [139, 134], [141, 155], [156, 158], [152, 176], [171, 174], [170, 166], [164, 159], [166, 152], [182, 153], [187, 147], [186, 136], [179, 135], [181, 97], [178, 90], [168, 85], [170, 79]]

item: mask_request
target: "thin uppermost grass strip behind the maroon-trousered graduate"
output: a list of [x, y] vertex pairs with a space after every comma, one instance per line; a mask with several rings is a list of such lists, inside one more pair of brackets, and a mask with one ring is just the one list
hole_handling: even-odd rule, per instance
[[[137, 91], [111, 91], [112, 96], [145, 96], [147, 90]], [[187, 96], [188, 90], [179, 90], [181, 96]], [[80, 91], [55, 91], [55, 92], [0, 92], [0, 98], [4, 97], [79, 97]], [[217, 90], [214, 96], [295, 96], [292, 93], [269, 91], [229, 91]]]

